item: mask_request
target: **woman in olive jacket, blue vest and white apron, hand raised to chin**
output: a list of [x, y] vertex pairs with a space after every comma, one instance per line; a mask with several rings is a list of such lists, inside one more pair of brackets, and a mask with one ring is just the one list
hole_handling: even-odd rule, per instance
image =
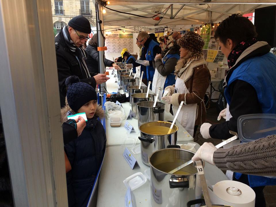
[[170, 36], [170, 40], [162, 51], [162, 55], [157, 54], [152, 61], [152, 65], [155, 68], [152, 80], [152, 91], [156, 94], [158, 88], [161, 87], [161, 92], [158, 95], [159, 100], [161, 100], [164, 88], [175, 84], [174, 71], [177, 61], [180, 59], [179, 49], [179, 45]]

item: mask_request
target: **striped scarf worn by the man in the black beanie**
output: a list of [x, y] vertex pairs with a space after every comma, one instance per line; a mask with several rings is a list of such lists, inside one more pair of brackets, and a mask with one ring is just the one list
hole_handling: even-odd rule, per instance
[[85, 63], [86, 53], [85, 50], [82, 47], [77, 47], [74, 45], [74, 42], [70, 39], [70, 34], [68, 31], [67, 26], [62, 28], [60, 31], [62, 33], [62, 36], [64, 37], [64, 41], [66, 45], [69, 47], [70, 51], [76, 56], [76, 59], [80, 63], [81, 66], [81, 72], [83, 74], [83, 77], [89, 78], [91, 77], [87, 68], [87, 65]]

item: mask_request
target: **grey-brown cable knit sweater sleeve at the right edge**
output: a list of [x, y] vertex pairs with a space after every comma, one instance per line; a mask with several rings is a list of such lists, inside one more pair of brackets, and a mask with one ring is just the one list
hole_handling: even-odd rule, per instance
[[221, 170], [262, 176], [276, 176], [276, 135], [214, 152]]

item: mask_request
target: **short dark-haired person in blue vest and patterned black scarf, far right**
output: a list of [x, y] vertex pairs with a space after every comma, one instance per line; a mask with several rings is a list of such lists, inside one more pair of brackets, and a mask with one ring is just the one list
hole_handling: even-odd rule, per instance
[[[229, 130], [237, 132], [237, 119], [244, 114], [276, 114], [276, 56], [269, 52], [271, 46], [256, 36], [252, 22], [239, 14], [229, 16], [216, 29], [214, 37], [229, 66], [224, 80], [229, 111], [220, 113], [226, 116], [226, 122], [202, 124], [203, 138], [232, 137]], [[255, 206], [265, 206], [264, 186], [276, 185], [276, 179], [241, 173], [234, 173], [233, 179], [252, 187]]]

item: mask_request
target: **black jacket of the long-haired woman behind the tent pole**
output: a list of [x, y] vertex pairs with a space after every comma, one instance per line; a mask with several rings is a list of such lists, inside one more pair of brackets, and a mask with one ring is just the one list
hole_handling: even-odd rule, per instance
[[[86, 53], [87, 53], [87, 59], [85, 60], [87, 68], [89, 70], [89, 72], [95, 72], [98, 73], [99, 69], [98, 69], [98, 62], [99, 62], [99, 57], [98, 57], [98, 50], [97, 48], [91, 46], [91, 45], [87, 45], [86, 49], [85, 49]], [[114, 62], [112, 62], [111, 60], [108, 59], [104, 59], [104, 64], [108, 67], [111, 67], [112, 64]]]

